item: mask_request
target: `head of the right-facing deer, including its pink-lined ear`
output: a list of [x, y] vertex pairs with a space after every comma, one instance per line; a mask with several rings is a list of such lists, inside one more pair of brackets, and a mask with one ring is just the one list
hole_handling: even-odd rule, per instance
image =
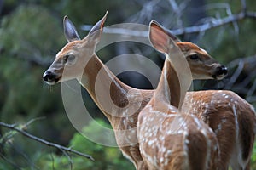
[[207, 54], [207, 51], [199, 48], [192, 42], [181, 42], [173, 36], [165, 27], [156, 21], [151, 21], [149, 26], [149, 40], [158, 51], [167, 54], [167, 59], [172, 56], [173, 42], [183, 53], [183, 57], [189, 63], [193, 79], [223, 79], [227, 75], [227, 68], [220, 65], [215, 59]]

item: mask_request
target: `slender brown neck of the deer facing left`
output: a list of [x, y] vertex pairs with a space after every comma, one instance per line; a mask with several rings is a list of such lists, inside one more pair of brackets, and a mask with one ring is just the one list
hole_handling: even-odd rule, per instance
[[113, 105], [117, 107], [128, 105], [126, 95], [129, 87], [119, 81], [96, 54], [88, 61], [79, 82], [109, 120], [113, 117], [112, 112], [116, 108]]

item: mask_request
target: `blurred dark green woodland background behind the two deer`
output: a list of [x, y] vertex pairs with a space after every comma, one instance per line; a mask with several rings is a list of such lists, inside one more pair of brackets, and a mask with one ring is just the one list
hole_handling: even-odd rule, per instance
[[[253, 0], [246, 2], [248, 10], [256, 12], [256, 3]], [[177, 8], [179, 10], [175, 10]], [[44, 116], [27, 130], [51, 142], [72, 146], [96, 159], [93, 162], [72, 155], [71, 163], [60, 150], [0, 127], [0, 169], [134, 169], [119, 149], [92, 143], [77, 133], [62, 104], [61, 84], [49, 87], [42, 81], [55, 54], [66, 44], [62, 32], [63, 16], [67, 14], [78, 27], [80, 37], [84, 37], [88, 31], [82, 31], [80, 26], [95, 24], [107, 10], [105, 26], [123, 22], [148, 25], [150, 20], [157, 20], [170, 29], [177, 29], [239, 13], [241, 3], [231, 0], [0, 0], [0, 122], [22, 124]], [[223, 81], [196, 81], [195, 89], [229, 89], [256, 106], [255, 19], [240, 20], [180, 38], [207, 49], [212, 57], [230, 69], [229, 77]], [[129, 43], [125, 47], [117, 44], [104, 48], [99, 56], [107, 62], [123, 53], [143, 54], [157, 65], [163, 64], [163, 58], [153, 48], [145, 50], [145, 47]], [[131, 78], [128, 72], [120, 78], [137, 88], [152, 88], [142, 75], [133, 76]], [[100, 124], [109, 126], [90, 96], [85, 91], [83, 93], [84, 103], [92, 116]], [[84, 127], [84, 131], [91, 133], [97, 130], [93, 124]], [[252, 169], [256, 169], [256, 146]]]

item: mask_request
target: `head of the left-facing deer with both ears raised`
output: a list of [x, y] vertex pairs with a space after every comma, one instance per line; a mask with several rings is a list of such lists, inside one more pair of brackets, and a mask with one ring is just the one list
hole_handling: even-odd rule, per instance
[[80, 74], [84, 71], [84, 65], [95, 54], [96, 44], [100, 41], [107, 14], [108, 12], [82, 40], [80, 40], [73, 23], [67, 16], [64, 17], [63, 26], [67, 44], [56, 54], [54, 62], [44, 72], [44, 82], [53, 85], [57, 82], [64, 82], [82, 76]]

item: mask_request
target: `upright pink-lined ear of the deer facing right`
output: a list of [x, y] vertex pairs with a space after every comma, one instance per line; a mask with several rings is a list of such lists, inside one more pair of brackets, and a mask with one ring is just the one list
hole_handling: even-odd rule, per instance
[[[172, 40], [171, 40], [172, 39]], [[149, 41], [161, 53], [168, 53], [169, 46], [180, 40], [157, 21], [152, 20], [149, 24]]]

